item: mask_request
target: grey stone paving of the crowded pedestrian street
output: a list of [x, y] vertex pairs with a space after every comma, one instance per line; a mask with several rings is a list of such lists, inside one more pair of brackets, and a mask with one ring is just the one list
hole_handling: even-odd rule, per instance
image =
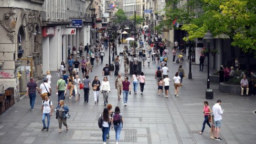
[[[121, 46], [123, 45], [119, 46], [118, 51], [121, 50]], [[171, 61], [170, 54], [168, 67], [169, 76], [172, 79], [178, 64]], [[108, 52], [104, 57], [104, 63], [93, 67], [93, 73], [90, 73], [91, 80], [94, 76], [99, 76], [102, 80], [102, 68], [106, 63], [108, 63]], [[189, 64], [185, 62], [183, 66], [185, 74], [188, 75]], [[222, 100], [221, 106], [225, 112], [222, 117], [220, 137], [223, 140], [210, 139], [207, 125], [204, 134], [198, 134], [204, 121], [202, 106], [206, 100], [207, 78], [207, 71], [201, 72], [198, 69], [198, 65], [192, 65], [193, 79], [184, 78], [179, 97], [174, 97], [172, 81], [169, 98], [165, 98], [163, 95], [157, 95], [154, 79], [155, 64], [151, 63], [150, 67], [145, 65], [142, 68], [146, 77], [145, 92], [143, 95], [132, 92], [126, 107], [123, 105], [123, 99], [117, 100], [117, 92], [114, 89], [115, 77], [111, 76], [109, 103], [113, 107], [120, 106], [124, 115], [120, 143], [255, 143], [256, 115], [253, 111], [256, 109], [256, 97], [220, 93], [218, 83], [211, 83], [214, 99], [208, 102], [212, 107], [217, 99]], [[123, 62], [120, 70], [124, 74]], [[51, 75], [52, 91], [55, 93], [54, 83], [58, 80], [58, 76], [55, 71], [52, 71]], [[92, 92], [89, 95], [89, 103], [83, 102], [82, 95], [83, 91], [81, 91], [81, 100], [78, 102], [65, 100], [70, 108], [71, 118], [67, 121], [70, 130], [68, 133], [61, 134], [58, 133], [55, 113], [51, 117], [49, 131], [41, 131], [41, 98], [37, 95], [35, 111], [30, 111], [29, 99], [25, 97], [0, 116], [0, 143], [101, 143], [102, 131], [98, 127], [97, 118], [104, 108], [102, 94], [100, 94], [99, 104], [94, 104]], [[54, 106], [57, 105], [56, 94], [53, 94], [50, 100]], [[107, 143], [114, 142], [115, 133], [111, 130]]]

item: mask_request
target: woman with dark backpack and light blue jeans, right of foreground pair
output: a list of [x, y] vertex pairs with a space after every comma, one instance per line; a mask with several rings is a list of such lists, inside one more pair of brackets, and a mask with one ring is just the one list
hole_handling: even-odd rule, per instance
[[119, 106], [115, 107], [115, 112], [112, 115], [112, 124], [111, 124], [111, 129], [115, 130], [115, 144], [118, 144], [119, 139], [120, 139], [120, 133], [123, 127], [123, 123], [124, 123], [124, 118], [122, 113], [120, 112]]

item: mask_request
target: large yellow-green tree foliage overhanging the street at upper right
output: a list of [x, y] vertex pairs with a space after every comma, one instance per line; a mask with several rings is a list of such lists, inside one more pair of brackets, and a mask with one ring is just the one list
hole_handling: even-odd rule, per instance
[[[218, 35], [229, 35], [232, 46], [238, 46], [245, 53], [256, 57], [256, 3], [254, 0], [194, 0], [183, 6], [181, 0], [166, 3], [165, 26], [172, 26], [173, 20], [182, 24], [188, 32], [184, 40], [202, 38], [207, 30]], [[172, 26], [172, 28], [175, 28]]]

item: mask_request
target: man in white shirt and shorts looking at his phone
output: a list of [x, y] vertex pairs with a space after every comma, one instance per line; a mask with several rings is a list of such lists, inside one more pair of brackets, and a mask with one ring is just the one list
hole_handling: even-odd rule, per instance
[[221, 110], [220, 106], [221, 100], [217, 100], [217, 103], [212, 107], [212, 114], [214, 114], [214, 139], [215, 140], [222, 140], [219, 137], [219, 132], [220, 132], [220, 126], [222, 123], [222, 114], [224, 110]]

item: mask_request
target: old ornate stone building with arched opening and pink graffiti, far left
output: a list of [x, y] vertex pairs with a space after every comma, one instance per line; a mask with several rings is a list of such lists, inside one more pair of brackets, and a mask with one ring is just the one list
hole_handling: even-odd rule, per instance
[[41, 79], [41, 10], [44, 0], [0, 2], [0, 92], [14, 87], [15, 101], [30, 77]]

